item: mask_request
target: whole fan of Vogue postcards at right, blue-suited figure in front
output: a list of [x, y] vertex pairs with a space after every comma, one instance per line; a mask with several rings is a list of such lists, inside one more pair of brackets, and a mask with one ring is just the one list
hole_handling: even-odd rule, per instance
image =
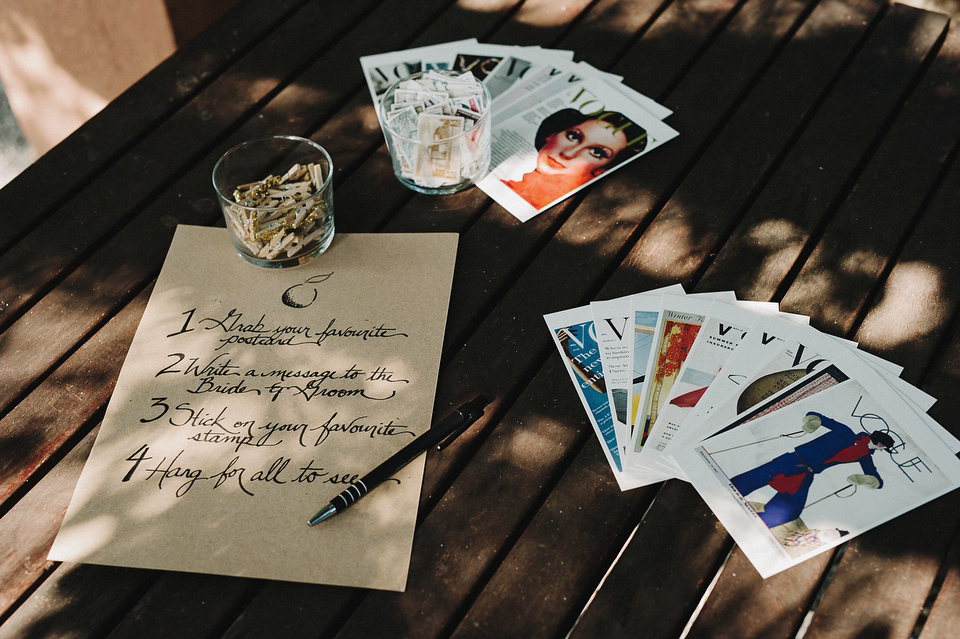
[[764, 578], [960, 486], [934, 398], [776, 304], [677, 285], [544, 319], [620, 487], [691, 482]]

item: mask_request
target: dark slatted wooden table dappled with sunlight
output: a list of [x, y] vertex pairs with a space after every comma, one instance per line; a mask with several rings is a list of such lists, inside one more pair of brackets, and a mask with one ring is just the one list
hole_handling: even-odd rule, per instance
[[[952, 27], [952, 28], [951, 28]], [[392, 176], [358, 58], [572, 49], [680, 137], [521, 224]], [[312, 137], [338, 230], [456, 231], [406, 592], [58, 564], [46, 551], [178, 223], [235, 143]], [[544, 313], [681, 282], [812, 316], [960, 434], [960, 30], [877, 0], [274, 0], [235, 10], [0, 191], [0, 638], [957, 636], [960, 493], [761, 580], [696, 492], [617, 489]]]

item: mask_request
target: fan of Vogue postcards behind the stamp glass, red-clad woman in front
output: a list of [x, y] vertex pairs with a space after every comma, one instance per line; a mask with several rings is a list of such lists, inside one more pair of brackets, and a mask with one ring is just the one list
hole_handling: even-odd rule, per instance
[[490, 92], [490, 173], [477, 183], [521, 221], [564, 200], [677, 132], [671, 111], [572, 51], [459, 40], [360, 58], [373, 103], [428, 71], [471, 73]]

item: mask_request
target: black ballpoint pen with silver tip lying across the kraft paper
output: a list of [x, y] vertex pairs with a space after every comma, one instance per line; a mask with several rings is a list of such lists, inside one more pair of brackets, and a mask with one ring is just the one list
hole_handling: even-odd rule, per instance
[[480, 396], [472, 402], [467, 402], [451, 415], [441, 420], [436, 426], [420, 437], [391, 455], [385, 462], [350, 485], [345, 491], [330, 500], [320, 512], [307, 521], [308, 526], [318, 524], [329, 519], [352, 506], [358, 499], [382, 484], [396, 474], [401, 468], [419, 457], [422, 453], [436, 446], [438, 449], [446, 447], [460, 436], [463, 431], [483, 416], [483, 409], [490, 400]]

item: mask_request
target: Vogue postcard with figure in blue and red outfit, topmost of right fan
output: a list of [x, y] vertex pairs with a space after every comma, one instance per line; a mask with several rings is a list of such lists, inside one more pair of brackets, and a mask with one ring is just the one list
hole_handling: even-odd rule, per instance
[[960, 460], [879, 376], [675, 456], [764, 578], [960, 486]]

